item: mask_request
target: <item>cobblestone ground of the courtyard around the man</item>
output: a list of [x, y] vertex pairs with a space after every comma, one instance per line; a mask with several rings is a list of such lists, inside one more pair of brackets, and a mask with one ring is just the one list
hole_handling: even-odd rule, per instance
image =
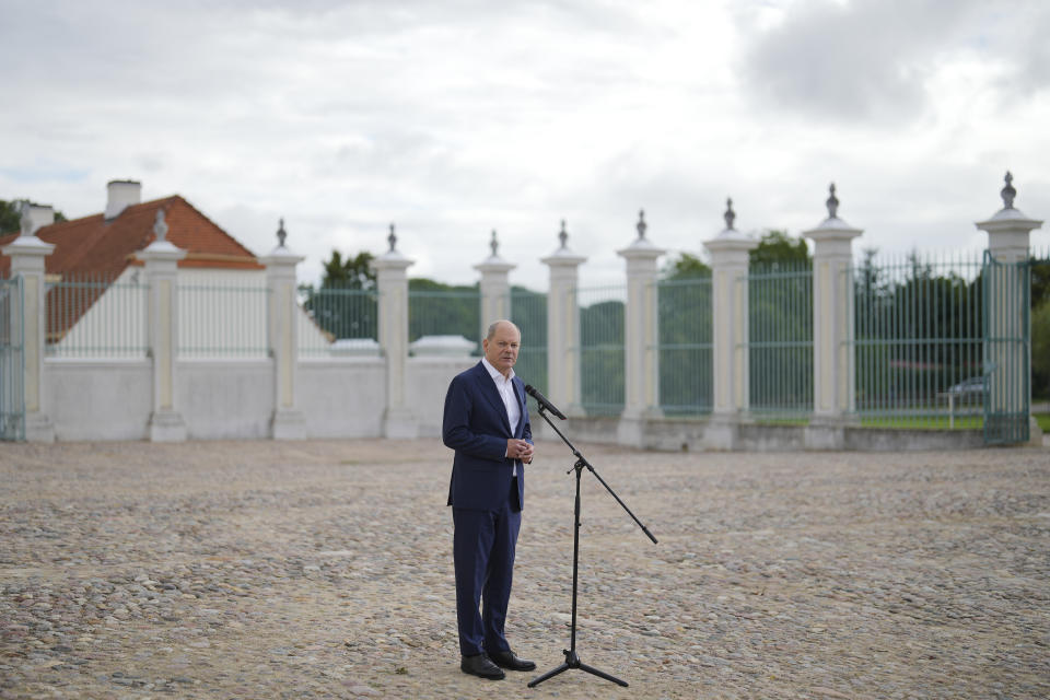
[[[1047, 698], [1050, 451], [581, 445], [582, 670], [458, 669], [436, 441], [0, 447], [0, 698]], [[574, 479], [528, 470], [509, 635], [569, 644]], [[537, 672], [537, 673], [539, 673]]]

